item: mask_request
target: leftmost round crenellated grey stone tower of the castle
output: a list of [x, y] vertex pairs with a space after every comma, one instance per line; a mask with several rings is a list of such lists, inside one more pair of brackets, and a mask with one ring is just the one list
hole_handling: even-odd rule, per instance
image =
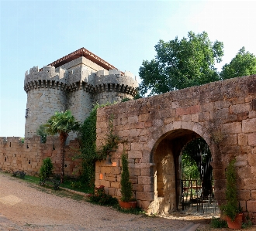
[[56, 73], [54, 66], [45, 66], [39, 71], [36, 66], [26, 72], [26, 138], [33, 137], [40, 124], [46, 123], [55, 111], [67, 109], [66, 89], [64, 70]]

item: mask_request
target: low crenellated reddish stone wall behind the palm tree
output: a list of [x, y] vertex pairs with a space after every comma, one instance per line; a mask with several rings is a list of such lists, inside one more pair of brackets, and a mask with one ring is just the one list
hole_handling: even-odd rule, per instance
[[[55, 148], [55, 150], [53, 150]], [[72, 160], [78, 152], [78, 141], [70, 141], [65, 146], [65, 175], [80, 175], [79, 160]], [[61, 173], [61, 151], [57, 137], [47, 137], [46, 144], [41, 144], [40, 137], [26, 138], [0, 138], [0, 168], [2, 171], [24, 171], [27, 175], [37, 175], [43, 159], [50, 157], [54, 163], [54, 173]]]

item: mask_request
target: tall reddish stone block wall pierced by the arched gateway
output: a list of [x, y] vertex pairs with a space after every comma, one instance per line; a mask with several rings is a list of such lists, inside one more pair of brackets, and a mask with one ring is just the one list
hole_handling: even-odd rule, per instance
[[[162, 95], [131, 100], [99, 109], [97, 145], [108, 131], [110, 114], [114, 131], [126, 140], [130, 181], [138, 205], [149, 212], [172, 212], [178, 207], [178, 156], [193, 138], [209, 146], [214, 196], [225, 199], [225, 168], [237, 158], [237, 186], [244, 212], [256, 213], [256, 76], [190, 87]], [[95, 185], [105, 185], [120, 196], [120, 155], [114, 165], [96, 164]], [[101, 175], [101, 178], [99, 176]]]

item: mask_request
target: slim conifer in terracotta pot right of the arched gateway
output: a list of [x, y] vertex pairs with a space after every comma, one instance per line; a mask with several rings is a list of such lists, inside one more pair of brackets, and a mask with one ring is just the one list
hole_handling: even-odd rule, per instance
[[227, 178], [227, 189], [226, 189], [226, 200], [227, 202], [220, 206], [223, 214], [227, 217], [227, 226], [230, 229], [241, 229], [243, 213], [239, 206], [237, 199], [237, 182], [236, 172], [234, 168], [235, 159], [230, 161], [227, 166], [226, 178]]

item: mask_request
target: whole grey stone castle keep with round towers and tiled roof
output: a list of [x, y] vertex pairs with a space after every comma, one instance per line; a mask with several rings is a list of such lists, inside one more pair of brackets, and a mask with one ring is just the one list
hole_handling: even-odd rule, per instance
[[55, 111], [71, 110], [77, 121], [85, 121], [93, 104], [120, 102], [137, 93], [136, 77], [95, 56], [85, 48], [58, 59], [42, 69], [25, 74], [27, 93], [25, 137], [36, 134]]

